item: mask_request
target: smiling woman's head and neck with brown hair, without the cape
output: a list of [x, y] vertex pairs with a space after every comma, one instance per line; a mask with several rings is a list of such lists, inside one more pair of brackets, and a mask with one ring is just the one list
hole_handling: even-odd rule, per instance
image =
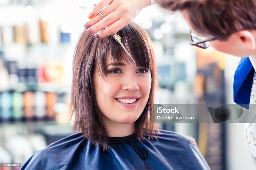
[[[157, 131], [153, 124], [156, 66], [151, 40], [134, 23], [118, 35], [137, 66], [112, 36], [94, 39], [86, 32], [78, 41], [73, 61], [74, 130], [93, 144], [100, 143], [104, 150], [109, 136], [135, 132], [141, 140], [146, 131], [150, 138]], [[130, 99], [136, 102], [130, 103]]]

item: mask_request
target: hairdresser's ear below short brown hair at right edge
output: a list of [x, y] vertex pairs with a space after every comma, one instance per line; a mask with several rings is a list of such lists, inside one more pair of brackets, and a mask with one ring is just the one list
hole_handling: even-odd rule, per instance
[[251, 50], [256, 48], [256, 41], [254, 37], [254, 32], [249, 30], [242, 30], [234, 33], [233, 35], [238, 36], [239, 40], [244, 44], [246, 44]]

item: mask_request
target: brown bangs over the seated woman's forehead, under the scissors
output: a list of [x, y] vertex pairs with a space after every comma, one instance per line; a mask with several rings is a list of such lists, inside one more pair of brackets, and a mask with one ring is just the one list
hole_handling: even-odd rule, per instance
[[[117, 34], [121, 37], [122, 44], [131, 54], [137, 66], [152, 69], [152, 66], [154, 66], [154, 54], [148, 34], [142, 28], [132, 23], [122, 28]], [[112, 64], [134, 64], [132, 60], [130, 60], [129, 55], [113, 36], [99, 39], [95, 50], [95, 62], [99, 64], [99, 71], [102, 76], [107, 74], [106, 57], [111, 57]]]

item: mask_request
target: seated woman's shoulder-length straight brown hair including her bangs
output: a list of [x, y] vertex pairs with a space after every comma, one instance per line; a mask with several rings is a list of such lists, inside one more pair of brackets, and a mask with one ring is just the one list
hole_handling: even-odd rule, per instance
[[[150, 37], [135, 23], [125, 26], [117, 34], [137, 65], [151, 70], [150, 95], [141, 116], [135, 122], [135, 136], [143, 140], [147, 133], [152, 138], [159, 131], [153, 123], [157, 72]], [[111, 55], [114, 63], [128, 62], [124, 57], [127, 56], [125, 51], [112, 36], [95, 39], [83, 31], [74, 52], [71, 89], [72, 115], [75, 115], [73, 131], [81, 131], [95, 147], [99, 144], [103, 150], [109, 148], [110, 141], [96, 101], [93, 72], [96, 63], [99, 64], [97, 71], [104, 78], [107, 72], [106, 55]]]

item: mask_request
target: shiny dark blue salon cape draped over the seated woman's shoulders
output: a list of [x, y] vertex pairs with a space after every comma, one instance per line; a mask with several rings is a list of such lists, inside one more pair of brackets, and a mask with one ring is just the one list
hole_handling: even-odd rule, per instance
[[[77, 133], [34, 153], [23, 169], [210, 169], [190, 137], [161, 130], [156, 139], [140, 142], [134, 134], [118, 137], [103, 152]], [[132, 137], [133, 136], [133, 137]], [[133, 139], [129, 139], [132, 137]], [[123, 140], [123, 142], [122, 142]]]

